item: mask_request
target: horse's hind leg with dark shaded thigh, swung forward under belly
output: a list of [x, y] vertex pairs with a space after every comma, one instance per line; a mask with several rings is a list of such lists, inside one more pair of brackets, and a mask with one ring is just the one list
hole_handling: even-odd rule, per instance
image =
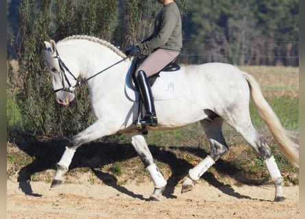
[[188, 192], [193, 189], [194, 181], [197, 181], [203, 174], [215, 164], [215, 162], [228, 151], [228, 146], [223, 138], [221, 127], [223, 125], [222, 118], [215, 118], [212, 121], [200, 121], [208, 142], [210, 144], [210, 154], [206, 156], [197, 166], [188, 171], [188, 177], [182, 183], [181, 192]]

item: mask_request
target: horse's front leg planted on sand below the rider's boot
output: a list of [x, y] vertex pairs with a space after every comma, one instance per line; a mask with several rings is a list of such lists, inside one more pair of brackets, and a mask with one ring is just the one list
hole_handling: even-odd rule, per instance
[[156, 164], [154, 164], [154, 158], [149, 151], [145, 138], [140, 134], [125, 134], [125, 136], [127, 136], [127, 138], [130, 139], [130, 142], [132, 142], [134, 149], [136, 149], [136, 152], [141, 157], [151, 179], [154, 181], [155, 189], [149, 197], [149, 200], [160, 201], [160, 195], [162, 194], [165, 185], [167, 185], [167, 181], [162, 176]]

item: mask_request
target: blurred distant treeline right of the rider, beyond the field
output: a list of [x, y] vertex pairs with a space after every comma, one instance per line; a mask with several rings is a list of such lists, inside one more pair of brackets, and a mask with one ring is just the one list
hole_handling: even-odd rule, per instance
[[183, 23], [183, 53], [193, 53], [188, 63], [196, 64], [297, 66], [289, 59], [297, 57], [297, 43], [287, 41], [298, 41], [298, 14], [296, 0], [193, 0]]

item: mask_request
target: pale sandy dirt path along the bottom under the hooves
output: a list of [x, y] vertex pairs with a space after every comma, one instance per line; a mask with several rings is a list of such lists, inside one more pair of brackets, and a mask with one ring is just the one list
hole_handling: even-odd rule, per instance
[[172, 198], [146, 201], [152, 183], [130, 183], [116, 188], [108, 185], [64, 184], [50, 190], [48, 183], [31, 182], [26, 186], [7, 181], [8, 218], [299, 218], [299, 187], [285, 187], [286, 201], [273, 203], [271, 186], [215, 188], [201, 182], [195, 189], [180, 194], [176, 186]]

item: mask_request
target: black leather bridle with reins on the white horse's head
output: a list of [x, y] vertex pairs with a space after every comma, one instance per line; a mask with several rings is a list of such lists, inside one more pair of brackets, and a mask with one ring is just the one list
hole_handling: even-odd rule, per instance
[[[120, 62], [123, 62], [125, 60], [127, 60], [127, 58], [129, 58], [128, 56], [127, 57], [124, 57], [122, 60], [120, 60], [119, 62], [116, 62], [110, 66], [108, 66], [107, 68], [104, 68], [103, 70], [99, 71], [98, 73], [96, 73], [95, 75], [93, 76], [90, 76], [88, 77], [87, 79], [82, 79], [82, 81], [77, 81], [77, 78], [73, 75], [73, 73], [71, 73], [71, 70], [69, 70], [69, 68], [64, 64], [64, 62], [62, 61], [62, 59], [60, 58], [60, 55], [58, 53], [58, 51], [56, 50], [56, 56], [54, 56], [56, 59], [58, 59], [58, 64], [60, 66], [60, 75], [62, 76], [62, 88], [59, 88], [59, 89], [56, 89], [56, 90], [53, 90], [54, 93], [57, 93], [59, 91], [64, 91], [64, 92], [71, 92], [73, 93], [75, 88], [77, 88], [78, 86], [81, 86], [82, 83], [92, 79], [93, 77], [103, 73], [104, 71], [108, 70], [109, 68], [112, 68], [113, 66], [119, 64]], [[66, 77], [66, 72], [68, 72], [72, 77], [73, 79], [75, 79], [76, 83], [74, 86], [71, 85], [68, 77]], [[66, 83], [68, 83], [69, 85], [69, 88], [66, 88], [64, 86], [64, 82], [66, 81]]]

